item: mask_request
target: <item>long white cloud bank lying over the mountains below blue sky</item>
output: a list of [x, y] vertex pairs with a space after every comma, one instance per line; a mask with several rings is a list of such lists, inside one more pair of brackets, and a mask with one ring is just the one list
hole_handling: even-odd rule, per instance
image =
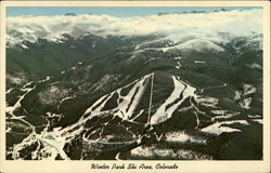
[[63, 34], [79, 38], [88, 32], [99, 36], [163, 34], [176, 42], [188, 36], [225, 41], [229, 37], [222, 37], [221, 32], [233, 37], [249, 36], [251, 32], [262, 34], [262, 10], [125, 18], [108, 15], [18, 16], [8, 17], [7, 32], [7, 42], [10, 45], [23, 40], [35, 42], [38, 38], [56, 41], [63, 38]]

